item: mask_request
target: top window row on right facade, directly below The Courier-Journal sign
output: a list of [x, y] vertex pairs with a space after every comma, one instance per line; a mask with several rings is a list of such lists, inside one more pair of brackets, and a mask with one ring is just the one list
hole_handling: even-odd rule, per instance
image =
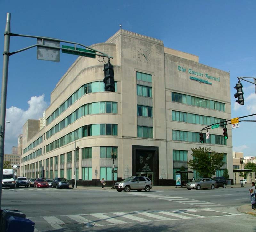
[[225, 103], [172, 92], [172, 101], [225, 112]]

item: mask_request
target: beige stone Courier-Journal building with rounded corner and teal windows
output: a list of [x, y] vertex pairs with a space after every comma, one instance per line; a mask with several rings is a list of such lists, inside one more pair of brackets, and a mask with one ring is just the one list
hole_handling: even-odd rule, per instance
[[228, 140], [223, 126], [209, 139], [204, 134], [204, 144], [199, 139], [202, 128], [231, 119], [228, 72], [125, 30], [91, 47], [114, 57], [115, 92], [104, 90], [102, 63], [79, 57], [52, 91], [46, 123], [23, 127], [23, 175], [76, 174], [78, 184], [94, 185], [112, 181], [114, 167], [114, 180], [145, 175], [154, 185], [171, 185], [175, 171], [191, 171], [187, 162], [198, 146], [225, 154], [217, 176], [225, 168], [232, 173], [231, 127]]

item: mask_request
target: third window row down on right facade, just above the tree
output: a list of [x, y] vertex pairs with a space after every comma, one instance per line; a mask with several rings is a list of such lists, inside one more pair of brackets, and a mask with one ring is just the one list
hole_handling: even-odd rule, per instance
[[[172, 130], [172, 140], [200, 143], [199, 134], [200, 133], [197, 133], [197, 132]], [[227, 145], [227, 141], [224, 140], [223, 135], [215, 135], [215, 134], [210, 134], [209, 139], [206, 139], [206, 134], [204, 134], [204, 143]]]

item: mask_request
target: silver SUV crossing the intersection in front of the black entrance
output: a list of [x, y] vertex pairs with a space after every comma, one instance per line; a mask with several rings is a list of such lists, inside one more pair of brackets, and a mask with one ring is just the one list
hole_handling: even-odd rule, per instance
[[130, 192], [130, 190], [137, 190], [141, 192], [143, 189], [149, 192], [152, 188], [152, 181], [145, 176], [131, 176], [121, 182], [115, 183], [115, 189], [118, 192]]

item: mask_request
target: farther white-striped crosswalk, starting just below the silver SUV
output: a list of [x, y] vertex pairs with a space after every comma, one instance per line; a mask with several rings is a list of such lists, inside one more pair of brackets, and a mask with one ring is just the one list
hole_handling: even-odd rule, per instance
[[222, 206], [221, 204], [216, 204], [216, 203], [212, 203], [212, 202], [200, 201], [200, 200], [184, 198], [184, 197], [180, 197], [180, 196], [163, 195], [163, 194], [157, 194], [157, 193], [129, 192], [127, 194], [135, 195], [135, 196], [146, 196], [146, 197], [156, 198], [156, 199], [160, 199], [160, 200], [178, 202], [178, 203], [182, 203], [182, 204], [189, 204], [189, 205], [195, 205], [195, 206], [200, 206], [200, 207]]

